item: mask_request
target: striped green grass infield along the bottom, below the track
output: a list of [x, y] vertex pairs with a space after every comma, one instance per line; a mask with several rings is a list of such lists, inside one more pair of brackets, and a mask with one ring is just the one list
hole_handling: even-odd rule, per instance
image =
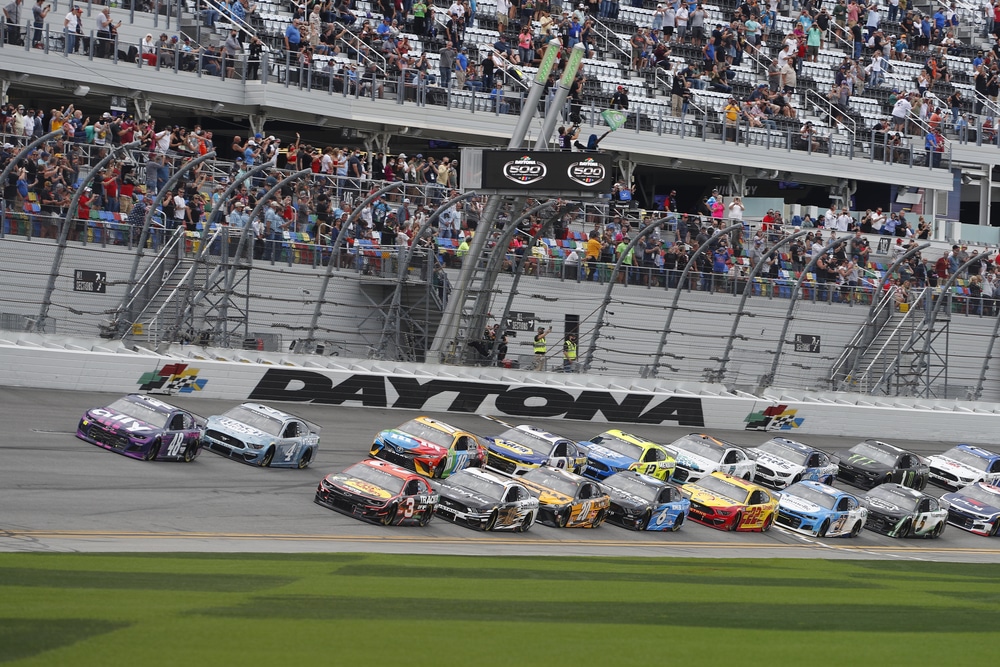
[[1000, 564], [0, 554], [0, 664], [988, 664]]

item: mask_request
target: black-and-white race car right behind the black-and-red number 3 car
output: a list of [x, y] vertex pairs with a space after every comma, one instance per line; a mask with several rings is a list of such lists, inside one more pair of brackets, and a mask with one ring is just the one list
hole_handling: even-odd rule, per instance
[[523, 484], [485, 470], [460, 470], [431, 485], [440, 496], [437, 515], [469, 528], [526, 533], [538, 516], [538, 498]]

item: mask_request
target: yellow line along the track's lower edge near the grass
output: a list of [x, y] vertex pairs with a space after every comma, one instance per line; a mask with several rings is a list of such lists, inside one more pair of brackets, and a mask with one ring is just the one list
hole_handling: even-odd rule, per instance
[[[0, 539], [182, 539], [182, 540], [276, 540], [276, 541], [300, 541], [300, 542], [369, 542], [369, 543], [396, 543], [396, 544], [495, 544], [495, 545], [520, 545], [520, 546], [580, 546], [580, 547], [630, 547], [630, 548], [716, 548], [716, 549], [814, 549], [817, 545], [810, 544], [758, 544], [753, 542], [634, 542], [623, 540], [547, 540], [528, 536], [518, 538], [494, 537], [420, 537], [415, 535], [295, 535], [282, 533], [198, 533], [198, 532], [111, 532], [111, 531], [88, 531], [88, 530], [0, 530]], [[976, 547], [915, 547], [909, 545], [900, 546], [853, 546], [847, 544], [837, 544], [838, 549], [848, 551], [876, 551], [876, 552], [903, 552], [903, 553], [975, 553], [975, 554], [1000, 554], [1000, 549], [976, 548]]]

